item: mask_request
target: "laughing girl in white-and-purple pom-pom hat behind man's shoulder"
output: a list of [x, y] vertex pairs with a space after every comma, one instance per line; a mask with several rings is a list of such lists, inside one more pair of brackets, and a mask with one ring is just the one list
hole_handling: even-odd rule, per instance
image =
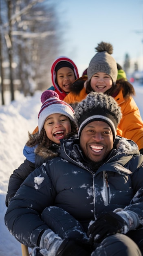
[[9, 179], [6, 206], [19, 189], [22, 182], [35, 167], [57, 156], [60, 139], [72, 137], [77, 133], [74, 110], [59, 95], [46, 90], [41, 95], [42, 106], [38, 114], [38, 132], [29, 133], [29, 140], [24, 146], [26, 160], [13, 171]]

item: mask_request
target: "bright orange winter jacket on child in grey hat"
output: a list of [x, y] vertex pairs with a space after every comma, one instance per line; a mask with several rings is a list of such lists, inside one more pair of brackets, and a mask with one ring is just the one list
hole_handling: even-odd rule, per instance
[[[83, 88], [79, 94], [70, 92], [64, 98], [64, 101], [68, 104], [77, 103], [85, 99], [86, 96], [86, 88]], [[123, 114], [120, 124], [117, 127], [117, 135], [132, 139], [136, 142], [140, 150], [143, 148], [143, 120], [141, 119], [139, 108], [136, 106], [133, 97], [130, 96], [128, 100], [123, 98], [122, 90], [119, 91], [114, 99], [121, 107]]]

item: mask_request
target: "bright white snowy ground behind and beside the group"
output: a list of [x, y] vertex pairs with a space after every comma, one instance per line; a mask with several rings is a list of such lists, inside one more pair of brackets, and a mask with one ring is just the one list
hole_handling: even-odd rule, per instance
[[[143, 119], [143, 85], [133, 85], [136, 90], [134, 99]], [[5, 196], [9, 176], [25, 159], [22, 150], [28, 139], [28, 131], [32, 132], [37, 126], [41, 94], [42, 92], [37, 91], [33, 97], [24, 98], [16, 92], [15, 101], [10, 104], [9, 93], [5, 93], [6, 106], [0, 105], [0, 256], [22, 255], [21, 244], [4, 224], [4, 214], [7, 210]]]

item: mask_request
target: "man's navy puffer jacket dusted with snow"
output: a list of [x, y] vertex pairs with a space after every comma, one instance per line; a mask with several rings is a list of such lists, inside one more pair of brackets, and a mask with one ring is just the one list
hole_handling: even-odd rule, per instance
[[38, 245], [49, 229], [40, 218], [49, 206], [70, 213], [85, 231], [90, 220], [117, 208], [134, 211], [143, 225], [143, 155], [134, 141], [117, 137], [96, 172], [86, 166], [78, 139], [62, 140], [59, 154], [36, 168], [9, 203], [5, 224], [20, 243]]

